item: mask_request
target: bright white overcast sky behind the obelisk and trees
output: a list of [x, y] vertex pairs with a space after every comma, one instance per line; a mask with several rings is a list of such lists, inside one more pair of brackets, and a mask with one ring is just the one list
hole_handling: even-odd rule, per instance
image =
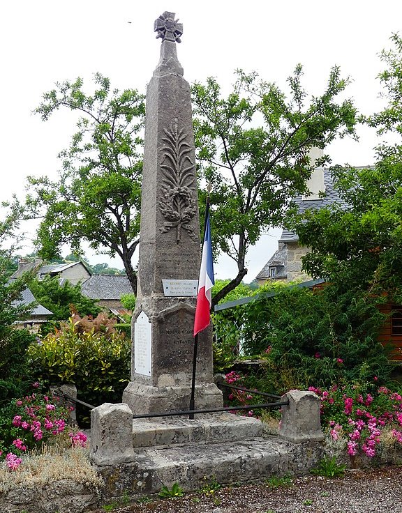
[[[300, 62], [307, 91], [320, 94], [330, 68], [338, 65], [352, 77], [348, 96], [364, 114], [380, 108], [378, 53], [391, 47], [389, 37], [402, 25], [401, 0], [3, 1], [0, 201], [13, 192], [23, 198], [27, 175], [57, 176], [57, 153], [68, 146], [75, 126], [63, 111], [46, 123], [31, 114], [43, 93], [64, 79], [80, 76], [89, 83], [97, 71], [119, 89], [144, 91], [161, 45], [154, 20], [164, 10], [184, 24], [178, 54], [188, 82], [214, 76], [229, 87], [233, 70], [242, 68], [285, 86]], [[365, 165], [373, 162], [375, 144], [365, 130], [359, 144], [339, 141], [327, 152], [336, 163]], [[247, 282], [271, 257], [279, 233], [263, 236], [249, 253]], [[89, 261], [122, 267], [105, 256]], [[216, 277], [234, 274], [230, 261], [221, 259]]]

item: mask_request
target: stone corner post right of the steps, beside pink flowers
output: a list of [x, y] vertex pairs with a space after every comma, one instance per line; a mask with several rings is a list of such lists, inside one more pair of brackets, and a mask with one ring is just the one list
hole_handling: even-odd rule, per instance
[[288, 400], [282, 406], [279, 436], [293, 443], [320, 442], [324, 439], [320, 422], [320, 398], [314, 392], [290, 390], [281, 397]]

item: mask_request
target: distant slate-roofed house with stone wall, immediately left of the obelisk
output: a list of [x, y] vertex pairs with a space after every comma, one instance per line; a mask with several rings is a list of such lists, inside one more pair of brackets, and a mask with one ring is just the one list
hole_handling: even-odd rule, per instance
[[82, 296], [97, 300], [99, 306], [119, 316], [128, 313], [120, 298], [123, 294], [132, 294], [133, 288], [126, 275], [92, 275], [82, 284], [81, 292]]

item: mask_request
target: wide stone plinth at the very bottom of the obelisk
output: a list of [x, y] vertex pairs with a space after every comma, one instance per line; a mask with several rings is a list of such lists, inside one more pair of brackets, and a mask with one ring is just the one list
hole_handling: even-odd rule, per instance
[[[186, 411], [190, 408], [190, 386], [154, 387], [131, 381], [123, 392], [123, 402], [133, 415]], [[223, 396], [215, 383], [195, 385], [195, 408], [222, 408]]]

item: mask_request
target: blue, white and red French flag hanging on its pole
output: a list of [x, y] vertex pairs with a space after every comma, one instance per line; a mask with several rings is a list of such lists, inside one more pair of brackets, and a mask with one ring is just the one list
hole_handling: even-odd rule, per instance
[[207, 328], [211, 321], [209, 310], [211, 308], [211, 289], [214, 283], [211, 227], [209, 226], [209, 213], [207, 213], [204, 243], [202, 244], [200, 279], [198, 280], [197, 306], [195, 307], [194, 337], [197, 333]]

